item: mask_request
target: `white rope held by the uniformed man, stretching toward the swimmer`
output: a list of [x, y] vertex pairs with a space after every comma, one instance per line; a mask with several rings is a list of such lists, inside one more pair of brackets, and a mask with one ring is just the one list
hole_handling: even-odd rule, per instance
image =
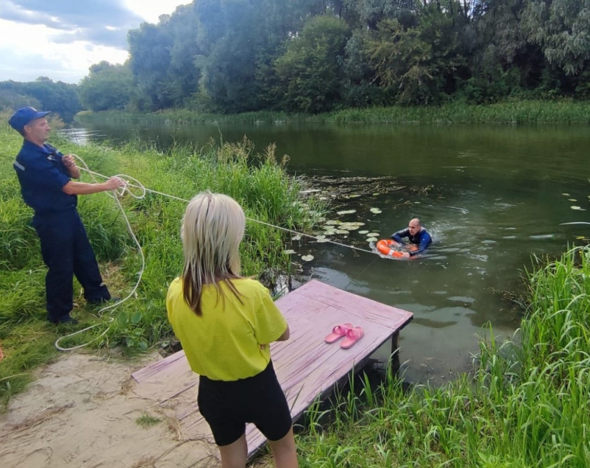
[[[92, 180], [95, 183], [98, 183], [98, 181], [96, 180], [96, 177], [102, 177], [102, 178], [105, 178], [105, 179], [108, 179], [109, 178], [108, 176], [105, 176], [103, 174], [100, 174], [99, 172], [94, 172], [94, 171], [90, 170], [90, 168], [87, 166], [86, 162], [80, 156], [77, 156], [75, 154], [72, 155], [72, 156], [74, 156], [77, 160], [79, 160], [81, 162], [81, 164], [82, 164], [83, 167], [80, 167], [79, 169], [83, 169], [85, 172], [87, 172], [88, 174], [90, 174], [90, 176], [92, 177]], [[109, 192], [107, 192], [107, 194], [108, 194], [109, 197], [112, 197], [112, 198], [115, 199], [115, 201], [117, 201], [117, 205], [119, 206], [119, 210], [121, 210], [121, 215], [123, 215], [123, 218], [125, 219], [125, 223], [127, 224], [127, 230], [129, 231], [129, 234], [131, 235], [131, 237], [133, 238], [133, 241], [135, 242], [135, 245], [137, 246], [137, 251], [140, 252], [140, 256], [142, 258], [142, 268], [140, 269], [139, 274], [137, 275], [137, 282], [135, 283], [135, 286], [133, 287], [133, 290], [131, 290], [131, 292], [124, 299], [121, 299], [121, 301], [119, 301], [117, 303], [112, 303], [112, 304], [110, 304], [110, 306], [106, 306], [106, 307], [101, 308], [98, 312], [96, 312], [97, 315], [99, 315], [99, 317], [103, 314], [103, 312], [106, 312], [106, 310], [110, 310], [112, 308], [115, 308], [117, 306], [120, 306], [122, 303], [124, 303], [125, 301], [127, 301], [127, 299], [129, 299], [131, 296], [133, 296], [133, 294], [135, 294], [135, 291], [137, 291], [137, 287], [139, 287], [139, 285], [140, 285], [140, 281], [142, 281], [142, 275], [143, 275], [144, 269], [145, 269], [146, 260], [145, 260], [145, 256], [144, 256], [144, 251], [142, 249], [142, 246], [141, 246], [140, 242], [137, 240], [137, 237], [135, 236], [135, 233], [133, 233], [133, 228], [131, 227], [131, 224], [129, 222], [129, 219], [128, 219], [127, 215], [125, 214], [125, 210], [124, 210], [123, 206], [121, 205], [121, 201], [119, 201], [119, 198], [120, 197], [123, 197], [124, 194], [128, 193], [128, 194], [130, 194], [131, 197], [133, 197], [135, 199], [143, 199], [146, 196], [146, 192], [150, 192], [150, 193], [153, 193], [153, 194], [162, 195], [162, 197], [168, 197], [170, 199], [174, 199], [174, 200], [178, 200], [178, 201], [183, 201], [185, 203], [189, 203], [189, 200], [185, 200], [185, 199], [180, 198], [180, 197], [175, 197], [174, 195], [167, 194], [167, 193], [164, 193], [164, 192], [158, 192], [158, 190], [151, 190], [149, 188], [146, 188], [146, 187], [144, 187], [144, 185], [140, 181], [137, 181], [136, 178], [133, 178], [133, 177], [128, 176], [126, 174], [117, 174], [117, 176], [115, 176], [115, 177], [119, 177], [119, 178], [121, 178], [121, 179], [123, 179], [125, 181], [128, 181], [128, 182], [127, 182], [127, 184], [126, 184], [125, 187], [120, 187], [117, 190], [113, 190], [112, 191], [113, 192], [112, 194], [109, 193]], [[135, 183], [130, 183], [129, 181], [133, 181]], [[133, 193], [130, 190], [130, 187], [132, 187], [134, 189], [139, 189], [140, 190], [140, 194], [137, 195], [137, 194]], [[263, 222], [263, 221], [260, 221], [259, 219], [252, 219], [252, 218], [248, 218], [248, 217], [246, 217], [246, 219], [248, 219], [248, 221], [255, 222], [255, 223], [258, 223], [258, 224], [264, 224], [264, 226], [269, 226], [271, 228], [280, 229], [281, 231], [285, 231], [287, 233], [292, 233], [292, 234], [295, 234], [295, 235], [301, 235], [301, 236], [304, 236], [304, 237], [309, 237], [310, 239], [313, 239], [313, 240], [316, 240], [316, 241], [328, 242], [330, 244], [335, 244], [335, 245], [338, 245], [338, 246], [346, 247], [347, 249], [353, 249], [353, 250], [357, 250], [357, 251], [360, 251], [360, 252], [371, 253], [371, 254], [375, 254], [375, 255], [379, 255], [380, 256], [380, 254], [377, 253], [377, 252], [375, 252], [375, 251], [371, 251], [371, 250], [367, 250], [367, 249], [361, 249], [360, 247], [355, 247], [355, 246], [348, 245], [348, 244], [342, 244], [342, 243], [336, 242], [334, 240], [323, 239], [323, 238], [322, 239], [319, 239], [318, 237], [316, 237], [314, 235], [300, 233], [298, 231], [294, 231], [292, 229], [283, 228], [281, 226], [275, 226], [274, 224]], [[112, 323], [112, 321], [114, 321], [114, 320], [115, 320], [114, 317], [109, 317], [108, 323]], [[76, 331], [74, 333], [69, 333], [68, 335], [62, 336], [62, 337], [58, 338], [58, 340], [56, 340], [55, 346], [60, 351], [74, 351], [74, 349], [80, 349], [80, 348], [83, 348], [85, 346], [88, 346], [90, 343], [95, 342], [96, 340], [99, 340], [101, 337], [103, 337], [104, 335], [106, 335], [108, 333], [108, 331], [110, 330], [110, 326], [108, 326], [106, 328], [106, 330], [103, 331], [100, 335], [92, 338], [92, 340], [90, 340], [89, 342], [85, 342], [83, 344], [78, 344], [77, 346], [71, 346], [71, 347], [67, 348], [65, 346], [61, 346], [60, 345], [60, 342], [62, 340], [65, 340], [66, 338], [79, 335], [81, 333], [84, 333], [85, 331], [92, 330], [92, 328], [95, 328], [95, 327], [101, 326], [101, 325], [102, 324], [94, 324], [94, 325], [91, 325], [91, 326], [87, 326], [86, 328], [83, 328], [82, 330], [78, 330], [78, 331]]]

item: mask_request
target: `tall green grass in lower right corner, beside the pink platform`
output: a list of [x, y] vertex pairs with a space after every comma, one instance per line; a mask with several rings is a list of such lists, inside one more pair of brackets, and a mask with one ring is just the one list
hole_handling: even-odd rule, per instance
[[301, 466], [590, 466], [590, 248], [539, 267], [528, 287], [518, 343], [482, 342], [474, 374], [446, 387], [405, 392], [389, 376], [310, 412]]

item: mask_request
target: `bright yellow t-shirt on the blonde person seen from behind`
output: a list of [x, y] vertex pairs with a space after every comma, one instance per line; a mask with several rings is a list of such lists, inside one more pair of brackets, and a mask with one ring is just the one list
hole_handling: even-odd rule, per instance
[[214, 285], [205, 285], [201, 295], [203, 315], [197, 316], [183, 298], [182, 278], [168, 288], [166, 308], [174, 334], [183, 345], [191, 369], [214, 381], [237, 381], [266, 369], [269, 346], [287, 330], [287, 322], [258, 281], [232, 280], [239, 302], [224, 282], [219, 297]]

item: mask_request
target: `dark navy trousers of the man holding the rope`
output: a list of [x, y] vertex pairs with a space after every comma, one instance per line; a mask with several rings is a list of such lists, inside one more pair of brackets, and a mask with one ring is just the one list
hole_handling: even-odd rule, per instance
[[45, 296], [50, 321], [68, 317], [74, 307], [74, 275], [84, 288], [87, 301], [110, 299], [76, 208], [35, 215], [33, 226], [41, 241], [41, 255], [48, 268]]

